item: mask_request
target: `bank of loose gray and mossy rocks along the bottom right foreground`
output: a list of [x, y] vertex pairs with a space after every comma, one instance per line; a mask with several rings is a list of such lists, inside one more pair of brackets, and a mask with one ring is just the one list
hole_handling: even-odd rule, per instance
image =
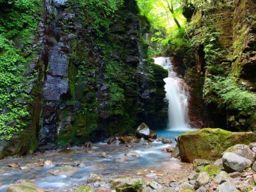
[[[155, 180], [145, 181], [143, 179], [112, 179], [105, 180], [98, 175], [90, 175], [87, 180], [87, 187], [93, 188], [109, 186], [115, 191], [168, 191], [168, 192], [238, 192], [255, 191], [256, 182], [256, 143], [250, 145], [234, 145], [228, 148], [221, 159], [209, 161], [206, 159], [195, 159], [193, 161], [193, 172], [183, 181], [170, 182], [168, 185], [160, 184]], [[237, 156], [231, 158], [230, 154]], [[80, 188], [83, 188], [81, 186]], [[79, 191], [80, 188], [75, 189]], [[103, 189], [102, 189], [103, 190]], [[106, 190], [108, 191], [108, 190]], [[111, 191], [111, 190], [109, 190]]]

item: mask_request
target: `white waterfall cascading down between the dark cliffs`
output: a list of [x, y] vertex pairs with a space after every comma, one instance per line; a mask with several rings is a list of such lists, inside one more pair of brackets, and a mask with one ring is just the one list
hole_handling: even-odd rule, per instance
[[159, 57], [154, 58], [154, 61], [167, 69], [169, 74], [164, 79], [166, 99], [169, 100], [168, 128], [173, 131], [188, 131], [188, 86], [173, 70], [170, 58]]

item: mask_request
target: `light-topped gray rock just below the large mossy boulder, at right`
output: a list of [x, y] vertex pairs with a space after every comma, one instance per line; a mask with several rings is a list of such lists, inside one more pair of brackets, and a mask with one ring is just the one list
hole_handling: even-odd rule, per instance
[[252, 161], [244, 157], [238, 156], [232, 152], [225, 152], [223, 154], [223, 166], [225, 171], [230, 172], [243, 172], [246, 168], [249, 168]]

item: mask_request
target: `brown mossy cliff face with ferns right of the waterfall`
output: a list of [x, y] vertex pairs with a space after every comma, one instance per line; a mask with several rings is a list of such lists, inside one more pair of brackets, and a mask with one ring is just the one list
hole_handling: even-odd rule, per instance
[[[186, 1], [186, 79], [216, 127], [255, 131], [256, 2]], [[193, 79], [201, 79], [193, 84]]]

